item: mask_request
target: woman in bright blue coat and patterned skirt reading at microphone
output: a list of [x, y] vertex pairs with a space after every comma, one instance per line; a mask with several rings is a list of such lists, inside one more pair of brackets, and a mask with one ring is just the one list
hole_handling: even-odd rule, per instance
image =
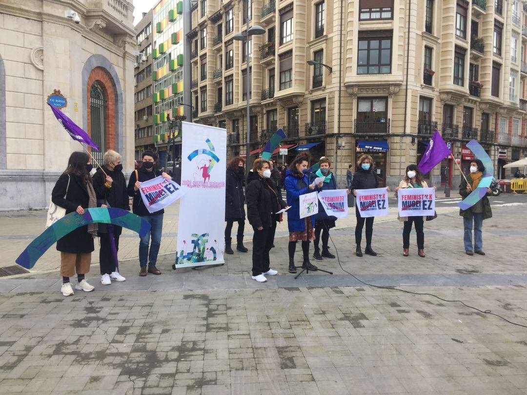
[[313, 191], [320, 191], [323, 182], [318, 185], [309, 184], [307, 167], [309, 156], [305, 153], [298, 154], [289, 165], [286, 172], [287, 205], [291, 206], [287, 212], [287, 225], [289, 228], [289, 273], [296, 273], [295, 250], [297, 241], [302, 242], [304, 259], [302, 268], [317, 270], [317, 266], [309, 261], [309, 243], [315, 240], [315, 215], [300, 218], [300, 196]]

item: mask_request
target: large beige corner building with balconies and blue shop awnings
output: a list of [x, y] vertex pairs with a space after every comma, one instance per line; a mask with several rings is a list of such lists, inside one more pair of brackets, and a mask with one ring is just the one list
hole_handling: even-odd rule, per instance
[[[245, 1], [249, 24], [266, 29], [249, 56], [232, 40]], [[226, 127], [228, 155], [245, 155], [248, 57], [253, 159], [282, 128], [286, 163], [324, 155], [344, 184], [369, 153], [394, 186], [437, 129], [464, 170], [474, 138], [504, 178], [500, 166], [527, 151], [524, 25], [518, 0], [200, 0], [187, 34], [195, 122]], [[451, 159], [426, 176], [455, 189], [461, 173]]]

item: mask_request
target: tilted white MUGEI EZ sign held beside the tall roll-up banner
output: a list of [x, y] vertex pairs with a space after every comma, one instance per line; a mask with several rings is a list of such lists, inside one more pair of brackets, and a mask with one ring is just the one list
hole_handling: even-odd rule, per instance
[[143, 203], [150, 213], [164, 209], [184, 194], [181, 186], [161, 175], [155, 179], [142, 182], [139, 191]]

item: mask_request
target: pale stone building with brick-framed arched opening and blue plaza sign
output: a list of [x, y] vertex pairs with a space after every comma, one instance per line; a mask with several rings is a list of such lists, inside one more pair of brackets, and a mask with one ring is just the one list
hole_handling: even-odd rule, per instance
[[114, 149], [133, 169], [132, 12], [124, 0], [0, 3], [0, 210], [47, 206], [70, 153], [84, 149], [46, 104], [57, 91], [101, 146], [96, 159]]

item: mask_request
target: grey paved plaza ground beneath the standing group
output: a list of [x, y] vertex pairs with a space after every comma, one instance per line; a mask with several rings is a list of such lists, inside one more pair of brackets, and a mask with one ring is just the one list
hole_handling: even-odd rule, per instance
[[[425, 224], [424, 259], [415, 233], [402, 256], [394, 213], [375, 222], [377, 257], [354, 255], [353, 215], [331, 231], [331, 251], [370, 284], [463, 300], [527, 325], [527, 196], [493, 199], [486, 256], [464, 254], [462, 218], [444, 203]], [[40, 232], [41, 215], [0, 213], [0, 266]], [[125, 282], [101, 285], [94, 264], [95, 290], [65, 298], [51, 250], [42, 268], [0, 279], [0, 393], [527, 393], [527, 328], [430, 295], [368, 287], [337, 260], [313, 260], [333, 275], [295, 280], [285, 224], [271, 253], [279, 275], [267, 283], [250, 279], [250, 252], [172, 271], [176, 225], [169, 211], [160, 276], [138, 277], [138, 240], [129, 237], [120, 251]]]

